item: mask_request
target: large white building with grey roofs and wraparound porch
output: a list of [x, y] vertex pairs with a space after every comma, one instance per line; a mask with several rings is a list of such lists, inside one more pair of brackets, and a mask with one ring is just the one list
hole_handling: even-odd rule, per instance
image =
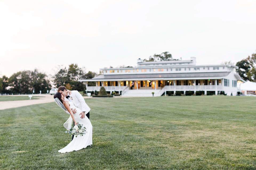
[[[187, 93], [201, 91], [203, 94], [215, 94], [224, 91], [227, 95], [236, 95], [237, 82], [244, 81], [235, 72], [234, 65], [196, 65], [196, 58], [190, 60], [145, 62], [140, 58], [137, 67], [104, 68], [101, 75], [85, 82], [87, 91], [118, 92], [122, 96], [154, 96], [166, 93]], [[87, 86], [96, 82], [96, 86]], [[168, 92], [171, 91], [171, 92]], [[191, 93], [191, 92], [190, 92]]]

